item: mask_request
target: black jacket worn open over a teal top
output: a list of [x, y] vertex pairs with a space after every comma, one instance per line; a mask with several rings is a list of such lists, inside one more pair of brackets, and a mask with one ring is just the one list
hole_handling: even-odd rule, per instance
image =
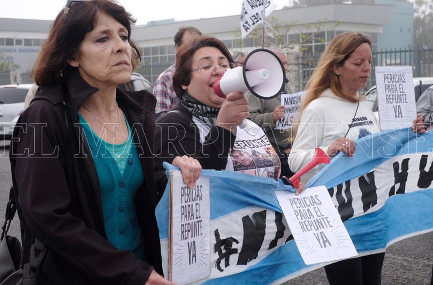
[[155, 182], [163, 187], [166, 179], [164, 173], [155, 176], [151, 153], [155, 97], [119, 88], [116, 95], [141, 145], [137, 151], [145, 179], [136, 209], [145, 239], [143, 262], [107, 241], [97, 170], [75, 125], [81, 105], [96, 91], [70, 68], [64, 83], [42, 87], [13, 132], [10, 161], [24, 262], [35, 236], [48, 248], [39, 284], [142, 285], [154, 267], [162, 274]]

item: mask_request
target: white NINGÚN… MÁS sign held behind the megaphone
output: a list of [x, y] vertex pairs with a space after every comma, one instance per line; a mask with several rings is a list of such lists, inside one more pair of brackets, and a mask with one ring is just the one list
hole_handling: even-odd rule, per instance
[[281, 94], [281, 105], [286, 107], [284, 117], [275, 122], [277, 130], [291, 128], [297, 120], [297, 112], [301, 107], [302, 97], [305, 92], [298, 92], [293, 94]]

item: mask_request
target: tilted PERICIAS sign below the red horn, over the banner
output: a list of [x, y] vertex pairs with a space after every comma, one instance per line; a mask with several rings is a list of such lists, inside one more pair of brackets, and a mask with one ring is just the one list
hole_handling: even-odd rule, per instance
[[358, 255], [325, 186], [275, 194], [305, 264]]

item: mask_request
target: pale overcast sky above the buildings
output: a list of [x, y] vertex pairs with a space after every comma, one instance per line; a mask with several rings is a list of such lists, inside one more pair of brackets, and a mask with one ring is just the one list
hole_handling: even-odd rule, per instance
[[[277, 9], [290, 0], [273, 0]], [[177, 21], [240, 14], [242, 0], [118, 0], [134, 15], [137, 24], [172, 19]], [[54, 20], [66, 0], [0, 0], [0, 18]]]

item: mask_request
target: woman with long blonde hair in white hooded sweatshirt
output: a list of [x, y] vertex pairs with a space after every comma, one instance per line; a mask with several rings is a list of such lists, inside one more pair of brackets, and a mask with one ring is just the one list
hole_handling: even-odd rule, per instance
[[[379, 131], [376, 117], [358, 90], [367, 86], [371, 72], [371, 38], [361, 32], [345, 32], [328, 44], [313, 72], [301, 107], [289, 166], [301, 169], [320, 147], [328, 156], [340, 151], [353, 156], [353, 140]], [[423, 119], [418, 116], [413, 131], [424, 133]], [[323, 167], [323, 166], [322, 166]], [[317, 173], [320, 168], [311, 170]], [[385, 253], [346, 259], [325, 266], [331, 285], [381, 283]]]

